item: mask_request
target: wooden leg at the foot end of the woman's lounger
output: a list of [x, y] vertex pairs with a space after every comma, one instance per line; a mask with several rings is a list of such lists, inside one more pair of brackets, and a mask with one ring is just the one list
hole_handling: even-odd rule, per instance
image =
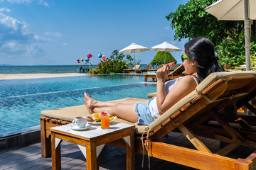
[[50, 157], [50, 138], [46, 137], [46, 120], [41, 119], [41, 152], [42, 157]]

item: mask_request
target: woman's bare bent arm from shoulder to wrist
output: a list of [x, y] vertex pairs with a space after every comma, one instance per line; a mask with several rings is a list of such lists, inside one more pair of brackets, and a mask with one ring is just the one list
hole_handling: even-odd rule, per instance
[[158, 81], [159, 79], [157, 79], [156, 104], [160, 115], [165, 113], [171, 106], [174, 106], [181, 98], [196, 89], [196, 81], [193, 77], [186, 76], [178, 79], [177, 83], [169, 91], [169, 94], [165, 96], [164, 81]]

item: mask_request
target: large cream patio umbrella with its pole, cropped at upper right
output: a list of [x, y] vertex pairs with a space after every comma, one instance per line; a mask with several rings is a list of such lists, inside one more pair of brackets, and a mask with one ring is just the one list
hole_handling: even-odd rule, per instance
[[256, 0], [220, 0], [205, 8], [218, 20], [245, 21], [245, 62], [250, 70], [250, 19], [256, 19]]

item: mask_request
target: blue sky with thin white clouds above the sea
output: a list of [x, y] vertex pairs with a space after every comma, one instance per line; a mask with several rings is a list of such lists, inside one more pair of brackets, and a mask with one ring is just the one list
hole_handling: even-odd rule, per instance
[[[168, 41], [183, 50], [187, 40], [174, 41], [165, 16], [187, 0], [0, 0], [0, 64], [69, 65], [92, 54], [110, 57], [132, 42], [152, 47]], [[182, 52], [171, 52], [181, 62]], [[147, 64], [155, 51], [137, 53]], [[133, 56], [133, 55], [132, 55]]]

